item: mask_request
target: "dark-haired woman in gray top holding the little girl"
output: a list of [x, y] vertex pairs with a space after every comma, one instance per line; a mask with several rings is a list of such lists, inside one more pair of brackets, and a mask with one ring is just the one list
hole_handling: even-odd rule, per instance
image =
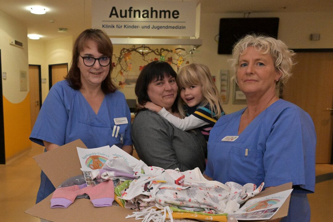
[[[138, 103], [150, 101], [180, 118], [177, 109], [176, 72], [162, 61], [154, 61], [141, 71], [135, 87]], [[133, 144], [141, 160], [149, 166], [180, 171], [205, 168], [207, 144], [199, 130], [183, 131], [154, 111], [136, 111], [132, 124]]]

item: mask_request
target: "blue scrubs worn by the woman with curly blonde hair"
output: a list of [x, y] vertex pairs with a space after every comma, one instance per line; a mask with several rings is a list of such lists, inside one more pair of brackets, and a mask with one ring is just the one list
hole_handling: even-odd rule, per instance
[[[316, 132], [308, 113], [278, 100], [238, 135], [245, 109], [221, 116], [210, 131], [205, 174], [221, 183], [264, 181], [265, 187], [293, 183], [288, 216], [282, 221], [310, 221], [306, 193], [314, 192]], [[225, 136], [239, 136], [221, 141]], [[247, 155], [245, 154], [247, 151]]]

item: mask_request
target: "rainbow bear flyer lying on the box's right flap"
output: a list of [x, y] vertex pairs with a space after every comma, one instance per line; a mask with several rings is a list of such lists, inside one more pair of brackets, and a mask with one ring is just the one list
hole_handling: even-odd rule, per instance
[[250, 199], [233, 215], [237, 220], [268, 220], [278, 211], [292, 190]]

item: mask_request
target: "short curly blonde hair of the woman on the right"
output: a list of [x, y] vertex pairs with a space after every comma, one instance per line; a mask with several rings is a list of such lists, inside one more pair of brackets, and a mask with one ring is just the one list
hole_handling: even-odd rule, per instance
[[228, 59], [228, 62], [231, 63], [231, 67], [233, 67], [235, 71], [235, 76], [238, 69], [239, 57], [243, 55], [245, 50], [250, 46], [262, 55], [270, 54], [272, 56], [276, 71], [282, 74], [280, 80], [285, 84], [292, 75], [291, 68], [295, 64], [292, 57], [295, 53], [288, 49], [286, 44], [281, 40], [264, 35], [246, 35], [234, 45], [232, 58]]

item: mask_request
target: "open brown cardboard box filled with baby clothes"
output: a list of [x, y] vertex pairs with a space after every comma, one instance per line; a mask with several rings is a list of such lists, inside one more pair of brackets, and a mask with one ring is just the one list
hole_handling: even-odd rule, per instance
[[[49, 177], [55, 187], [61, 185], [66, 179], [82, 174], [80, 170], [81, 164], [78, 158], [76, 147], [87, 148], [86, 145], [80, 140], [75, 140], [68, 144], [47, 151], [45, 153], [34, 156], [35, 161], [42, 168], [45, 174]], [[263, 197], [274, 194], [280, 191], [291, 189], [292, 184], [287, 183], [270, 190], [261, 191], [256, 197]], [[50, 200], [53, 194], [26, 210], [25, 213], [35, 217], [53, 222], [68, 222], [68, 221], [91, 221], [99, 218], [112, 219], [119, 222], [134, 222], [135, 218], [126, 219], [127, 215], [131, 215], [133, 210], [122, 208], [119, 206], [112, 207], [94, 207], [88, 199], [76, 199], [67, 209], [64, 208], [50, 208]], [[253, 199], [253, 198], [252, 198]], [[289, 200], [285, 201], [279, 211], [271, 218], [277, 219], [287, 216]], [[255, 221], [255, 220], [251, 220]], [[264, 222], [258, 220], [258, 222]], [[257, 221], [255, 221], [257, 222]]]

